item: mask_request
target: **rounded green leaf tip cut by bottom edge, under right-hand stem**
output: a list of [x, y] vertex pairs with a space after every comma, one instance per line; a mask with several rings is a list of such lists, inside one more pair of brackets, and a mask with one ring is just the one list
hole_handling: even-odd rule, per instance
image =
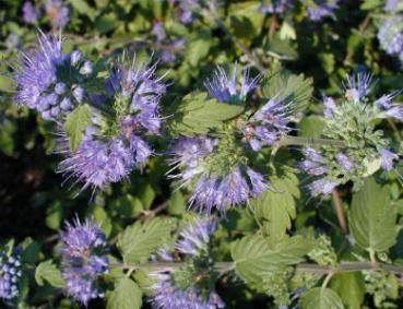
[[303, 309], [344, 309], [339, 295], [330, 288], [316, 287], [303, 298]]

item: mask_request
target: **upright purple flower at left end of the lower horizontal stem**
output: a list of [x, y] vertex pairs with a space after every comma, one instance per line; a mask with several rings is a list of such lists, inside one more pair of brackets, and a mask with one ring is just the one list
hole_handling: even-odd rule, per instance
[[93, 298], [104, 297], [97, 280], [109, 272], [104, 233], [92, 221], [67, 223], [62, 239], [62, 276], [67, 294], [84, 306]]

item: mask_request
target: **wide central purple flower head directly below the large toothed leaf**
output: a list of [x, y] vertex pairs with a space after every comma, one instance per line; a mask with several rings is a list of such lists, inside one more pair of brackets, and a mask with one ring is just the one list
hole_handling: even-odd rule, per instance
[[[221, 143], [222, 146], [225, 144], [209, 138], [181, 138], [173, 147], [170, 163], [180, 169], [180, 174], [173, 177], [193, 186], [190, 204], [201, 212], [217, 209], [225, 213], [229, 206], [244, 204], [269, 188], [260, 173], [241, 164], [232, 164], [227, 157], [221, 158], [220, 154], [213, 153]], [[225, 170], [221, 174], [210, 170], [218, 166]]]

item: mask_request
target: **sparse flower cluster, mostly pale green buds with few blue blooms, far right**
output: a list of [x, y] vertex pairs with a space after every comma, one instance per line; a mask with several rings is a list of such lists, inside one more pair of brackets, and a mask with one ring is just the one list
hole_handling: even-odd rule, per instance
[[[369, 106], [371, 85], [370, 74], [347, 76], [345, 98], [342, 102], [324, 98], [327, 127], [323, 132], [328, 138], [344, 141], [345, 147], [303, 150], [305, 159], [298, 167], [316, 178], [308, 186], [312, 195], [329, 194], [336, 186], [349, 180], [359, 182], [368, 173], [374, 173], [368, 171], [369, 164], [391, 171], [399, 161], [398, 154], [389, 150], [390, 142], [374, 127], [377, 119], [403, 120], [403, 108], [401, 104], [394, 103], [398, 93], [382, 95]], [[351, 130], [348, 123], [356, 123], [357, 129]]]

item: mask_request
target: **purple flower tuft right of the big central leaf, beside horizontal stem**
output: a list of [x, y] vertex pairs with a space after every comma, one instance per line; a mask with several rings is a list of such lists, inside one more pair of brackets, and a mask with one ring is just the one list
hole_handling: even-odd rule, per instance
[[283, 104], [270, 99], [248, 121], [244, 136], [253, 151], [259, 151], [262, 145], [272, 145], [282, 135], [292, 131], [288, 123], [294, 112], [293, 103]]

